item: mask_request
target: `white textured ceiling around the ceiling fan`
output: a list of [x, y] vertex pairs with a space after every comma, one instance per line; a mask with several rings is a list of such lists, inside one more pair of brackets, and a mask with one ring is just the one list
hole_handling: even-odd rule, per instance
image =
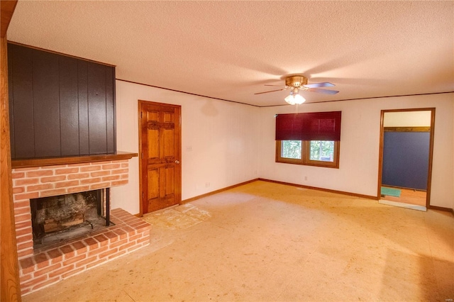
[[19, 0], [8, 39], [255, 106], [289, 74], [340, 91], [307, 103], [454, 91], [454, 1]]

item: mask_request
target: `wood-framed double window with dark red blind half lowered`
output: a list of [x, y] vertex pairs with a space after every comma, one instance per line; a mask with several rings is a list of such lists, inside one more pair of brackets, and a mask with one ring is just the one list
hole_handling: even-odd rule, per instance
[[279, 114], [276, 162], [339, 167], [341, 111]]

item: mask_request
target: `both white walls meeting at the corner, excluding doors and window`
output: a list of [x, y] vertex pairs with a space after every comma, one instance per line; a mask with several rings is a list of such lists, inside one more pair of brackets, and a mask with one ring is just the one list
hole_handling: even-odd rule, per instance
[[[117, 81], [119, 151], [138, 152], [138, 99], [182, 106], [183, 200], [258, 177], [377, 196], [380, 111], [435, 107], [431, 205], [454, 208], [454, 94], [257, 108]], [[275, 114], [296, 110], [342, 111], [339, 169], [275, 162]], [[138, 186], [133, 157], [129, 184], [112, 189], [112, 207], [139, 213]]]

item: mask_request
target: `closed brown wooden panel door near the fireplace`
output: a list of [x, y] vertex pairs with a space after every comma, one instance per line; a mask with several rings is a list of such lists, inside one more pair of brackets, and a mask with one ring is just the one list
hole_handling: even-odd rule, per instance
[[139, 101], [140, 213], [181, 202], [181, 106]]

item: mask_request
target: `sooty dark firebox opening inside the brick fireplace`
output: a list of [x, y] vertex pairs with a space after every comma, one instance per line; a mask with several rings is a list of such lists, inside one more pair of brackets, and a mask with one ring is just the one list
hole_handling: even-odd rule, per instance
[[33, 248], [80, 237], [109, 226], [109, 189], [30, 200]]

